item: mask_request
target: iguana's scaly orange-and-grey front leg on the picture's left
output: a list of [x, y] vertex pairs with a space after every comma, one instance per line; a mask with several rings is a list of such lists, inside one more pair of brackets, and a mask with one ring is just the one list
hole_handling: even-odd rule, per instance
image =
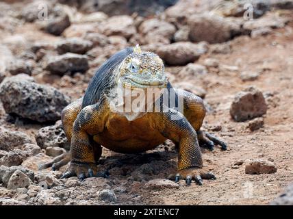
[[79, 112], [71, 137], [71, 163], [62, 178], [77, 176], [101, 176], [97, 173], [97, 155], [101, 156], [101, 145], [92, 144], [91, 136], [103, 131], [104, 105], [102, 102], [84, 107]]

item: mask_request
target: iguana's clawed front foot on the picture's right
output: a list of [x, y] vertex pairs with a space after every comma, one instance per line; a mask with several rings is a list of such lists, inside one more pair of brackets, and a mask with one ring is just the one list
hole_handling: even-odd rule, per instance
[[[174, 179], [174, 177], [172, 177]], [[216, 179], [212, 172], [205, 171], [203, 168], [186, 168], [183, 170], [178, 170], [177, 175], [175, 175], [175, 182], [177, 183], [179, 179], [185, 179], [186, 185], [190, 185], [192, 179], [199, 185], [203, 185], [203, 179]]]

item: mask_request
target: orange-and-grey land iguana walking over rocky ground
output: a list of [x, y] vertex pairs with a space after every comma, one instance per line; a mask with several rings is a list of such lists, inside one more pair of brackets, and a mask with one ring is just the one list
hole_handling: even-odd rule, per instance
[[[153, 110], [123, 112], [119, 111], [121, 105], [112, 104], [117, 99], [114, 90], [146, 91], [152, 88], [167, 92], [174, 90], [175, 97], [183, 100], [183, 112], [170, 107], [170, 103], [162, 99], [164, 93], [160, 91], [157, 92], [157, 99], [152, 97], [151, 103], [145, 103], [153, 105]], [[122, 99], [128, 97], [124, 95]], [[159, 103], [160, 110], [154, 110], [158, 108], [155, 103]], [[122, 107], [125, 106], [123, 104], [122, 101]], [[97, 177], [102, 146], [118, 153], [140, 153], [170, 139], [179, 151], [177, 172], [173, 179], [186, 179], [187, 185], [194, 179], [203, 185], [202, 179], [216, 177], [203, 168], [199, 143], [211, 150], [214, 144], [227, 149], [225, 142], [201, 131], [205, 113], [203, 100], [199, 96], [172, 88], [158, 55], [141, 51], [139, 46], [128, 47], [112, 55], [92, 77], [84, 96], [64, 108], [62, 125], [71, 142], [71, 150], [42, 168], [52, 166], [55, 170], [70, 162], [62, 178], [77, 176], [83, 180]]]

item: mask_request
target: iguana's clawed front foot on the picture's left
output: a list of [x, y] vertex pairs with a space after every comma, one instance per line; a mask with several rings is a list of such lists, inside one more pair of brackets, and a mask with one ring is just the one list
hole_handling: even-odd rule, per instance
[[77, 176], [80, 181], [89, 177], [108, 177], [107, 172], [97, 172], [94, 163], [71, 162], [61, 179]]

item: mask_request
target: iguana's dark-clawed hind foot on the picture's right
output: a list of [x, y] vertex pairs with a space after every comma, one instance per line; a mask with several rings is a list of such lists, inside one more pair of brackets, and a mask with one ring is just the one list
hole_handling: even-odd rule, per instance
[[208, 133], [207, 131], [197, 131], [197, 136], [199, 138], [199, 144], [201, 146], [207, 146], [210, 151], [214, 150], [214, 145], [218, 144], [221, 146], [222, 150], [227, 150], [227, 144], [217, 138], [216, 136]]

